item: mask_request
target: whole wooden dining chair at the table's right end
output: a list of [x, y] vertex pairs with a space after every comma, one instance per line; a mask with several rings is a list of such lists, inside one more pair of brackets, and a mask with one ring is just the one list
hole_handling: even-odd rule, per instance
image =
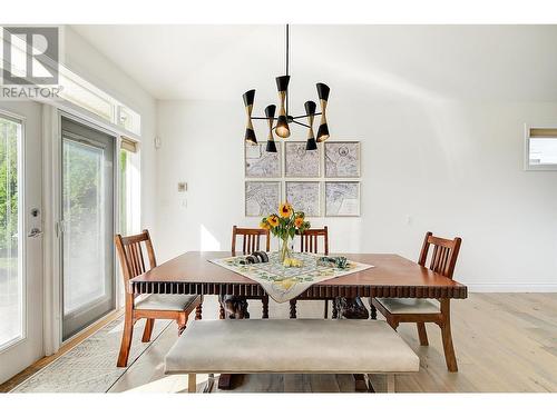
[[[462, 239], [458, 237], [452, 240], [443, 239], [428, 231], [418, 264], [452, 279], [461, 242]], [[431, 246], [433, 252], [427, 266]], [[370, 305], [385, 317], [393, 329], [397, 329], [400, 322], [416, 322], [421, 346], [428, 346], [426, 322], [437, 324], [441, 329], [447, 368], [456, 373], [458, 365], [451, 336], [450, 300], [440, 298], [437, 301], [424, 298], [370, 298]]]

